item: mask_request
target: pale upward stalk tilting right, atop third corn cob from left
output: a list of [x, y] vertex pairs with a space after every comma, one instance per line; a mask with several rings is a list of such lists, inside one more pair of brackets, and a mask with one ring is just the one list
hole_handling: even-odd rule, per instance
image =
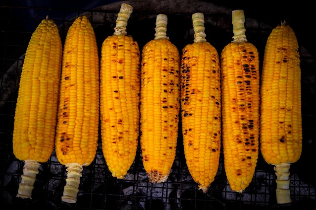
[[114, 35], [124, 34], [126, 35], [126, 26], [127, 21], [130, 18], [130, 15], [133, 12], [133, 7], [128, 4], [122, 4], [120, 12], [118, 13], [118, 17], [116, 19], [116, 26], [114, 28]]

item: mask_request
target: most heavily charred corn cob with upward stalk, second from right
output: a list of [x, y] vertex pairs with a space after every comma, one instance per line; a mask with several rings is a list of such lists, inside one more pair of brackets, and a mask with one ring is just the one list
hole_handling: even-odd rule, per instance
[[258, 158], [259, 56], [247, 42], [242, 10], [232, 11], [233, 41], [221, 54], [224, 164], [232, 190], [251, 182]]

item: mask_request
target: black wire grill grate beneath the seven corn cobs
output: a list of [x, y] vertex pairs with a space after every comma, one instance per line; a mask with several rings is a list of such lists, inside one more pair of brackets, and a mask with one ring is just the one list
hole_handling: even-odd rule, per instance
[[[48, 15], [60, 28], [64, 42], [67, 30], [78, 15], [84, 13], [94, 26], [99, 49], [102, 41], [113, 34], [117, 11], [65, 10], [33, 7], [0, 8], [0, 195], [4, 209], [25, 206], [47, 209], [312, 209], [315, 202], [314, 170], [315, 139], [315, 60], [300, 46], [302, 67], [303, 152], [300, 160], [291, 165], [291, 204], [276, 204], [275, 174], [273, 167], [259, 156], [251, 184], [242, 193], [233, 192], [227, 182], [223, 153], [215, 181], [206, 194], [197, 189], [184, 159], [181, 134], [177, 155], [169, 179], [165, 183], [147, 181], [139, 150], [135, 162], [124, 180], [113, 178], [99, 147], [94, 162], [84, 167], [78, 200], [63, 203], [61, 195], [66, 179], [66, 168], [55, 153], [47, 163], [41, 164], [36, 177], [32, 200], [16, 197], [23, 162], [12, 152], [12, 132], [19, 77], [23, 55], [32, 32]], [[168, 15], [168, 14], [167, 14]], [[220, 52], [231, 40], [231, 19], [227, 16], [205, 15], [207, 40]], [[131, 15], [128, 34], [142, 47], [154, 35], [156, 14]], [[246, 20], [246, 35], [261, 55], [272, 27], [258, 20]], [[193, 41], [191, 14], [168, 15], [167, 35], [181, 49]], [[298, 40], [299, 41], [299, 40]], [[181, 130], [181, 129], [179, 129]], [[313, 206], [313, 207], [312, 207]]]

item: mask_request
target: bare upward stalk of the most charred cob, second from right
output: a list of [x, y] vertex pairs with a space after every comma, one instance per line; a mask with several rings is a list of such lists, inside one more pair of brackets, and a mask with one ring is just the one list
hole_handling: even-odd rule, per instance
[[243, 10], [232, 11], [232, 24], [233, 24], [233, 42], [242, 43], [247, 42], [245, 35], [245, 15]]

